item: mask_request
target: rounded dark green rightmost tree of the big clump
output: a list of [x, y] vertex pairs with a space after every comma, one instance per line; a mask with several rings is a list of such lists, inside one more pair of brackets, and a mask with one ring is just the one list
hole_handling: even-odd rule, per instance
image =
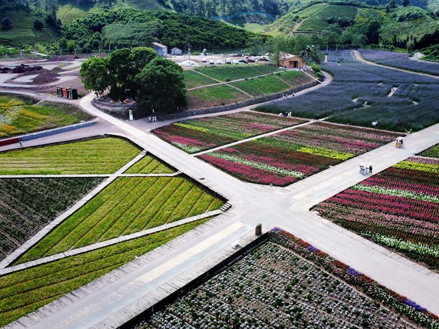
[[149, 101], [152, 108], [160, 111], [185, 106], [187, 90], [182, 72], [182, 68], [175, 62], [161, 57], [154, 58], [135, 77], [135, 82], [139, 85], [138, 101]]

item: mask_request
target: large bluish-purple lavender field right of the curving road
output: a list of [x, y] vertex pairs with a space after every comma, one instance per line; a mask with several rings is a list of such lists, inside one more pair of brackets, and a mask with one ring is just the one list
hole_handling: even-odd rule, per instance
[[[394, 131], [417, 131], [439, 122], [435, 95], [439, 80], [357, 62], [351, 51], [330, 56], [322, 69], [333, 75], [324, 88], [298, 97], [259, 106], [262, 112], [289, 112], [296, 117], [321, 119]], [[392, 88], [397, 88], [392, 97]], [[367, 101], [367, 106], [363, 106]], [[401, 122], [399, 122], [401, 120]]]

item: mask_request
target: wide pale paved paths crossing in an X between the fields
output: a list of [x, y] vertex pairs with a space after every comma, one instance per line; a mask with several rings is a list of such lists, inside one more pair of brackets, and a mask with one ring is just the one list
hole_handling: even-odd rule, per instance
[[[182, 284], [197, 277], [214, 263], [233, 252], [230, 243], [248, 241], [248, 234], [261, 222], [266, 229], [280, 226], [324, 252], [377, 280], [385, 287], [409, 297], [439, 315], [437, 291], [439, 276], [407, 258], [379, 247], [360, 236], [309, 212], [309, 206], [342, 191], [365, 178], [358, 173], [358, 162], [374, 165], [375, 172], [388, 168], [421, 149], [439, 143], [439, 124], [405, 138], [406, 147], [385, 145], [367, 154], [306, 178], [288, 188], [259, 188], [233, 178], [210, 164], [165, 143], [154, 134], [104, 114], [91, 104], [93, 95], [81, 106], [123, 130], [134, 143], [150, 151], [179, 171], [221, 193], [233, 204], [212, 222], [210, 229], [191, 233], [170, 245], [159, 247], [149, 261], [136, 265], [117, 279], [112, 273], [99, 279], [99, 289], [80, 289], [70, 302], [56, 302], [10, 328], [108, 328], [116, 327], [143, 308], [154, 304]], [[200, 180], [202, 178], [202, 180]], [[206, 226], [204, 226], [205, 228]], [[196, 230], [195, 230], [196, 231]], [[246, 238], [247, 237], [247, 238]], [[134, 263], [136, 263], [134, 261]], [[134, 265], [133, 265], [134, 266]], [[141, 300], [141, 303], [139, 303]], [[39, 319], [39, 321], [37, 320]], [[7, 327], [8, 328], [8, 327]]]

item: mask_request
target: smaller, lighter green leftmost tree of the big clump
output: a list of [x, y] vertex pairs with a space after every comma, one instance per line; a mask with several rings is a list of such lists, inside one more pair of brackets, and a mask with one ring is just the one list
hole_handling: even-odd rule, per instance
[[102, 95], [110, 85], [110, 75], [106, 61], [100, 57], [91, 57], [83, 62], [80, 77], [85, 88], [93, 90], [96, 96]]

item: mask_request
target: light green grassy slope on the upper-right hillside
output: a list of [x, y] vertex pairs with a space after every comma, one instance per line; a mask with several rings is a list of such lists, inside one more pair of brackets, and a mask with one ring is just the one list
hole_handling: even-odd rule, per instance
[[[314, 6], [312, 6], [314, 7]], [[311, 8], [308, 8], [309, 11], [305, 12], [305, 15], [310, 14], [303, 21], [302, 24], [298, 27], [298, 31], [317, 31], [322, 32], [324, 29], [327, 29], [329, 23], [327, 22], [327, 18], [331, 16], [339, 16], [339, 17], [349, 17], [354, 19], [357, 15], [357, 7], [353, 5], [324, 5], [322, 8], [316, 8], [316, 11], [311, 14]]]

